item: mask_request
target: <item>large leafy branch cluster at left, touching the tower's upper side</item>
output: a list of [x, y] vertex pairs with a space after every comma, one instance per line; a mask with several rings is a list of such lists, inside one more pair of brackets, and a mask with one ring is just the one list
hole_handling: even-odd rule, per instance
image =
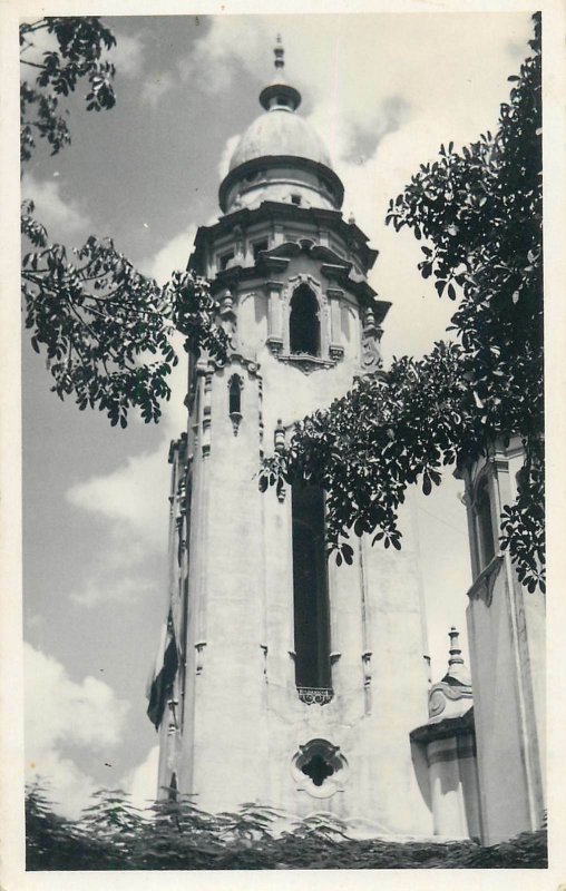
[[26, 202], [22, 234], [38, 248], [22, 260], [26, 327], [33, 350], [46, 352], [51, 389], [60, 399], [72, 395], [80, 410], [105, 411], [113, 425], [126, 427], [129, 409], [138, 409], [146, 423], [157, 421], [178, 362], [175, 325], [193, 349], [224, 354], [225, 334], [214, 321], [217, 306], [206, 282], [177, 273], [162, 288], [110, 238], [90, 236], [71, 252], [47, 245], [32, 214], [33, 204]]

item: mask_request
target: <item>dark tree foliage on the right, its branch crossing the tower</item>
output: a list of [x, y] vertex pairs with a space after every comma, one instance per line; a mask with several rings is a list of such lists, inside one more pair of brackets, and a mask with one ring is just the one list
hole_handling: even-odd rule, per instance
[[[495, 136], [423, 164], [391, 200], [387, 223], [424, 238], [419, 270], [458, 301], [449, 330], [420, 361], [394, 360], [326, 411], [296, 424], [260, 484], [315, 481], [328, 492], [330, 550], [351, 562], [349, 530], [400, 547], [407, 486], [428, 495], [445, 467], [521, 437], [526, 464], [505, 506], [501, 547], [519, 578], [544, 589], [544, 389], [540, 19]], [[377, 530], [377, 531], [375, 531]]]

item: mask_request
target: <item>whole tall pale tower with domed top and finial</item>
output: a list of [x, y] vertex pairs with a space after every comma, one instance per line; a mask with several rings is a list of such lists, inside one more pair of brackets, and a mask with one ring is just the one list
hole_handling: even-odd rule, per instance
[[299, 114], [280, 41], [260, 102], [219, 186], [222, 216], [189, 260], [232, 349], [224, 364], [189, 363], [188, 428], [169, 454], [170, 609], [149, 708], [160, 794], [431, 835], [409, 737], [428, 718], [410, 521], [402, 551], [355, 539], [353, 564], [338, 567], [323, 492], [257, 486], [263, 454], [296, 420], [377, 373], [389, 309], [367, 280], [378, 252], [342, 216], [342, 183]]

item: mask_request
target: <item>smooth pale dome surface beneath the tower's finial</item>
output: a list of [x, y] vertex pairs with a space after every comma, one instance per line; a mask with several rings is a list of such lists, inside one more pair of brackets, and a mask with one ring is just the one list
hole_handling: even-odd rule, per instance
[[230, 169], [274, 155], [308, 158], [332, 169], [330, 155], [316, 130], [304, 118], [276, 105], [250, 125], [232, 155]]

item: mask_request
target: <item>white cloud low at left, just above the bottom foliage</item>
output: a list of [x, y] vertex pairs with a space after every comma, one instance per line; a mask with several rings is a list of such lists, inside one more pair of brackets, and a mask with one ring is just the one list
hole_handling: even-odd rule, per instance
[[61, 747], [107, 752], [123, 738], [129, 705], [95, 677], [71, 681], [57, 659], [23, 645], [26, 781], [48, 784], [55, 810], [78, 816], [97, 784]]

